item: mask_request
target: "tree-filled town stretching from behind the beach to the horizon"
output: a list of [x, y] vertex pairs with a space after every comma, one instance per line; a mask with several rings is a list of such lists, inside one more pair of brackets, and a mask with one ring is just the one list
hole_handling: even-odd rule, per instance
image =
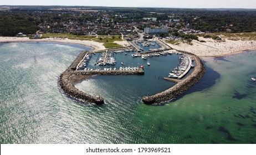
[[[233, 18], [228, 18], [229, 15]], [[234, 16], [235, 14], [235, 16]], [[254, 9], [205, 10], [171, 8], [0, 6], [2, 36], [42, 34], [126, 35], [145, 32], [167, 40], [191, 42], [213, 32], [255, 32]], [[218, 20], [217, 20], [218, 19]], [[249, 20], [250, 22], [246, 22]], [[246, 23], [246, 24], [245, 24]], [[38, 33], [36, 33], [38, 32]], [[37, 35], [36, 35], [37, 34]], [[215, 38], [217, 39], [217, 38]]]

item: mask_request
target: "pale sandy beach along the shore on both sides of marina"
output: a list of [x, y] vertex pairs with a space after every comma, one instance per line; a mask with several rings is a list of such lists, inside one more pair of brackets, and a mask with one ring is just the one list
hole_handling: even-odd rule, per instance
[[[241, 51], [256, 50], [255, 40], [228, 40], [227, 38], [222, 38], [221, 41], [213, 40], [211, 38], [199, 37], [199, 40], [204, 40], [206, 42], [199, 42], [193, 40], [193, 45], [188, 45], [187, 43], [180, 43], [178, 45], [170, 45], [173, 49], [189, 51], [198, 56], [225, 56], [230, 54], [239, 53]], [[44, 38], [44, 39], [29, 39], [27, 37], [0, 37], [1, 43], [9, 42], [57, 42], [57, 43], [67, 43], [67, 44], [80, 44], [88, 46], [93, 49], [93, 51], [106, 49], [103, 43], [94, 42], [90, 40], [71, 40], [66, 38]], [[122, 46], [129, 45], [126, 41], [116, 41], [115, 43]]]

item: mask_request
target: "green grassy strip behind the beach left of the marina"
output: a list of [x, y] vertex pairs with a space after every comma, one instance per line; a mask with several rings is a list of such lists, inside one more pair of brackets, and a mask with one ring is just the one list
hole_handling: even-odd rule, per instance
[[115, 41], [122, 41], [121, 35], [73, 35], [73, 34], [55, 34], [55, 33], [46, 33], [43, 34], [41, 38], [68, 38], [73, 40], [91, 40], [94, 42], [104, 43], [105, 48], [116, 48], [122, 47], [122, 45], [114, 43]]

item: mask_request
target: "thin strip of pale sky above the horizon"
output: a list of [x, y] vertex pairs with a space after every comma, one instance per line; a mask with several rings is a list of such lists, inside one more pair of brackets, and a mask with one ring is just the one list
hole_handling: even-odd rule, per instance
[[255, 0], [0, 0], [0, 5], [256, 9]]

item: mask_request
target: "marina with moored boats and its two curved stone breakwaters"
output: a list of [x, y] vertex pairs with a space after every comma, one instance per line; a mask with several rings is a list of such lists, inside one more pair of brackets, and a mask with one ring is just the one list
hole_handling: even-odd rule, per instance
[[[154, 64], [153, 60], [163, 58], [170, 60], [170, 58], [176, 58], [178, 65], [175, 69], [172, 70], [169, 68], [171, 72], [168, 73], [169, 71], [167, 70], [168, 74], [166, 77], [155, 76], [155, 78], [175, 82], [177, 84], [155, 95], [142, 97], [142, 101], [145, 104], [159, 105], [174, 99], [192, 85], [196, 84], [205, 72], [203, 63], [196, 55], [167, 47], [160, 51], [150, 51], [151, 46], [162, 48], [163, 45], [160, 46], [159, 43], [155, 44], [155, 42], [142, 42], [141, 46], [145, 46], [147, 49], [144, 50], [144, 52], [138, 52], [136, 49], [131, 49], [131, 47], [126, 49], [115, 48], [114, 50], [110, 49], [110, 51], [101, 51], [101, 53], [89, 53], [88, 51], [84, 51], [78, 56], [74, 63], [70, 65], [69, 69], [60, 76], [60, 86], [66, 94], [69, 94], [75, 99], [100, 105], [104, 104], [103, 97], [100, 97], [100, 95], [99, 97], [92, 94], [89, 95], [77, 89], [73, 84], [73, 79], [79, 77], [80, 80], [83, 80], [91, 75], [144, 75], [147, 69], [154, 68], [154, 66], [151, 65]], [[129, 56], [127, 53], [132, 54], [129, 54], [131, 55]], [[155, 56], [159, 58], [153, 58]], [[193, 61], [194, 64], [192, 64]], [[165, 68], [168, 68], [168, 66], [165, 65]], [[190, 73], [191, 68], [193, 68], [193, 70]], [[157, 68], [155, 71], [157, 70], [160, 70], [160, 68]]]

